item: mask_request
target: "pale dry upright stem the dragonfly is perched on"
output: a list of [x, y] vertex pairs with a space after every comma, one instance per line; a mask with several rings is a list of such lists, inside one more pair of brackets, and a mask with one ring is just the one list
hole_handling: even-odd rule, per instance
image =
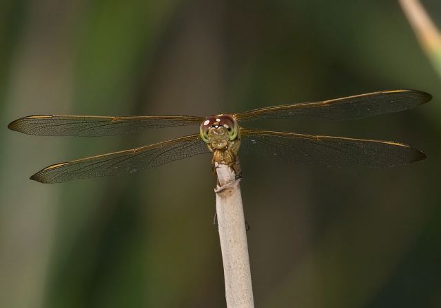
[[216, 213], [228, 308], [254, 307], [245, 218], [239, 179], [232, 168], [216, 163]]

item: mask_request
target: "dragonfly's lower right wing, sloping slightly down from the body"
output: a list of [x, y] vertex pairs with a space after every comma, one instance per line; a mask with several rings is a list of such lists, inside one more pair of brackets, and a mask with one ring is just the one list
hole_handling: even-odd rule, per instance
[[416, 148], [389, 141], [250, 129], [242, 129], [241, 135], [241, 154], [281, 157], [306, 165], [391, 167], [426, 158]]

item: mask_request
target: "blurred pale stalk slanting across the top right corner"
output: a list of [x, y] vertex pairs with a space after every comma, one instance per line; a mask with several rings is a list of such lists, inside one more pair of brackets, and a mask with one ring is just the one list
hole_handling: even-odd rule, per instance
[[441, 76], [441, 34], [418, 0], [398, 0], [424, 52]]

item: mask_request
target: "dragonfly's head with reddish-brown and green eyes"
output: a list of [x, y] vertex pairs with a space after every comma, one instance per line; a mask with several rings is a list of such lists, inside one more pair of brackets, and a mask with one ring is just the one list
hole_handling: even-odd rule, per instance
[[227, 148], [238, 136], [239, 127], [231, 115], [210, 115], [201, 124], [202, 140], [216, 150]]

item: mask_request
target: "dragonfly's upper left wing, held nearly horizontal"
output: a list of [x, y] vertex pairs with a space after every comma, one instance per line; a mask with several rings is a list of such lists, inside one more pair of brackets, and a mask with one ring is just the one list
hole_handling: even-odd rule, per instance
[[145, 129], [198, 125], [202, 117], [187, 115], [141, 115], [107, 117], [92, 115], [30, 115], [11, 122], [13, 131], [29, 135], [99, 137], [123, 135]]

